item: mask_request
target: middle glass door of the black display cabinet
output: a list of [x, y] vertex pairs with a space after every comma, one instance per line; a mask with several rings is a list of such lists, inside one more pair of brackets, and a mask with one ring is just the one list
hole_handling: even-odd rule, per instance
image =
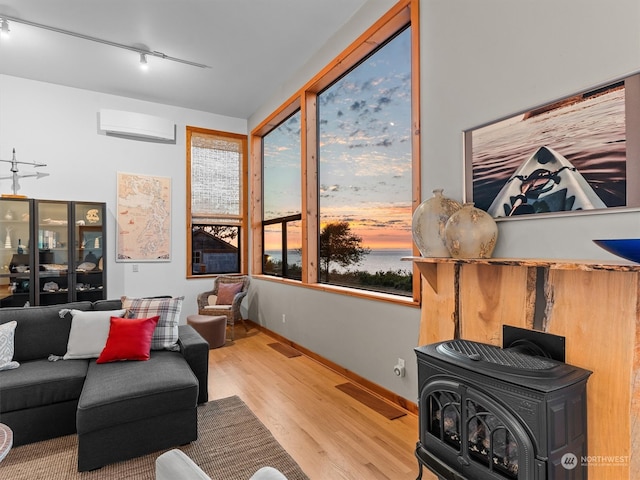
[[69, 287], [69, 203], [38, 200], [38, 305], [70, 300]]

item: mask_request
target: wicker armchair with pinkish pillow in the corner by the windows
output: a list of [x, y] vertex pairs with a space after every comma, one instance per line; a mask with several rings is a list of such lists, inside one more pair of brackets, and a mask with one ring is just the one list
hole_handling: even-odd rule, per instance
[[237, 320], [240, 320], [245, 330], [249, 331], [240, 313], [240, 304], [248, 290], [249, 277], [246, 275], [216, 277], [213, 281], [213, 290], [198, 295], [198, 314], [227, 317], [227, 325], [231, 327], [231, 340], [233, 340]]

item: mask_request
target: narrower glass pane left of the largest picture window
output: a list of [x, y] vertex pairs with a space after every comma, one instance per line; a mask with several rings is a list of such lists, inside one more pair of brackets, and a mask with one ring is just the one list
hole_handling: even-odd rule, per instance
[[263, 265], [267, 275], [302, 278], [300, 110], [262, 139]]

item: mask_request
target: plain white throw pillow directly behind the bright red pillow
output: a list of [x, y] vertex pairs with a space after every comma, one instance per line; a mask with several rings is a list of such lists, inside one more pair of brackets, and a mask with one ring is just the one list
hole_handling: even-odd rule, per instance
[[126, 312], [122, 310], [71, 310], [71, 331], [67, 343], [65, 360], [80, 358], [98, 358], [107, 344], [111, 317], [122, 317]]

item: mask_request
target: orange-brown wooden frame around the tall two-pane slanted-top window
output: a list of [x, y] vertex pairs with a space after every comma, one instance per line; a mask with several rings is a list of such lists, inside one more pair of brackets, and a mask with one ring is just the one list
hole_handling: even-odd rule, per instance
[[[288, 280], [271, 275], [264, 279], [291, 282], [309, 288], [344, 293], [347, 295], [381, 299], [394, 303], [419, 305], [420, 274], [413, 266], [413, 295], [401, 297], [371, 292], [357, 288], [338, 287], [318, 283], [318, 129], [317, 95], [342, 77], [380, 45], [396, 33], [411, 25], [411, 146], [412, 146], [412, 211], [420, 204], [420, 39], [419, 0], [401, 0], [367, 31], [360, 35], [332, 62], [315, 75], [306, 85], [293, 94], [277, 110], [257, 125], [251, 132], [251, 231], [253, 275], [262, 275], [262, 138], [276, 128], [297, 109], [301, 111], [301, 182], [302, 182], [302, 280]], [[414, 254], [418, 254], [413, 247]]]

